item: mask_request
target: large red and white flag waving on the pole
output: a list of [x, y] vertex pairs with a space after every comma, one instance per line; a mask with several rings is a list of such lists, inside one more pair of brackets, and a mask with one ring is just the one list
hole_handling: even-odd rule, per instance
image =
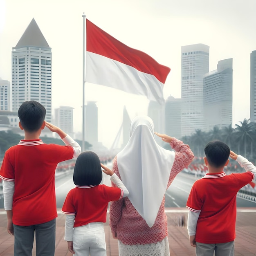
[[163, 87], [170, 70], [86, 19], [86, 82], [145, 95], [162, 103]]

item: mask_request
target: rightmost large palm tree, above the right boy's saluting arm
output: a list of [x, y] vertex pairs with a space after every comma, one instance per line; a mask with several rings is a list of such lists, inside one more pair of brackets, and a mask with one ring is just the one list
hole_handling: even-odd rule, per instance
[[[236, 124], [236, 137], [238, 138], [238, 145], [240, 146], [240, 143], [244, 146], [244, 156], [246, 157], [246, 148], [247, 148], [247, 141], [251, 144], [251, 150], [252, 150], [252, 142], [253, 142], [253, 134], [255, 130], [255, 124], [254, 122], [250, 123], [250, 119], [244, 119], [243, 122], [239, 121], [239, 124]], [[238, 148], [238, 153], [240, 148]]]

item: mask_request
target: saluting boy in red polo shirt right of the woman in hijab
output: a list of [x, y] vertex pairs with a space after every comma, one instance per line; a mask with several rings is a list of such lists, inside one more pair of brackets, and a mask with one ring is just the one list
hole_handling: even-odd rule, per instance
[[[236, 194], [256, 180], [256, 167], [222, 141], [209, 142], [204, 153], [209, 173], [193, 184], [186, 204], [190, 244], [197, 256], [234, 256]], [[229, 156], [247, 172], [226, 175]]]

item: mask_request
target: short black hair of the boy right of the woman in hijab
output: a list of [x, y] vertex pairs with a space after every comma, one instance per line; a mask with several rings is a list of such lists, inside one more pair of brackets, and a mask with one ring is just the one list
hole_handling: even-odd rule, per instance
[[229, 159], [230, 148], [224, 142], [215, 140], [205, 146], [204, 153], [209, 165], [218, 168], [225, 166]]

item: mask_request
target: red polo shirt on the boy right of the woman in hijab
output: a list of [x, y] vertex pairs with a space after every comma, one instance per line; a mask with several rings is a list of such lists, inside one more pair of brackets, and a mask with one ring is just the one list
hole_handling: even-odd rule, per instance
[[228, 243], [236, 238], [236, 194], [254, 179], [254, 173], [207, 173], [191, 189], [186, 207], [200, 212], [195, 241]]

